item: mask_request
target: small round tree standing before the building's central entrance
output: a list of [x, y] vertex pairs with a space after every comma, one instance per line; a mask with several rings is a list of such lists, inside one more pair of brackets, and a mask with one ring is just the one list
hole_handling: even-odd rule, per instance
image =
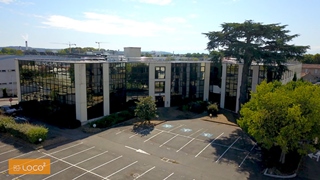
[[150, 120], [157, 115], [156, 103], [151, 96], [140, 99], [136, 104], [135, 116], [143, 122], [148, 121], [150, 123]]

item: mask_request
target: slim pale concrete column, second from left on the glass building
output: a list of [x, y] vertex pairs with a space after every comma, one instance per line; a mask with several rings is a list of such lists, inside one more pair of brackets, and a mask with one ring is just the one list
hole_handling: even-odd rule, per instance
[[103, 71], [103, 115], [110, 115], [109, 63], [104, 63]]

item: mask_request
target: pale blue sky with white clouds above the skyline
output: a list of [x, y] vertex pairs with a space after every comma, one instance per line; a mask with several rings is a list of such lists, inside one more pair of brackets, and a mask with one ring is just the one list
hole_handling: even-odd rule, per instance
[[[0, 0], [0, 47], [98, 47], [207, 53], [224, 22], [281, 23], [320, 53], [319, 0]], [[60, 43], [60, 44], [59, 44]]]

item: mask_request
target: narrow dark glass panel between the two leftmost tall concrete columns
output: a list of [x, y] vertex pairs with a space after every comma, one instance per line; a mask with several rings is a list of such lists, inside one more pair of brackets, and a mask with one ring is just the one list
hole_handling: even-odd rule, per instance
[[103, 70], [101, 63], [86, 64], [87, 116], [103, 116]]

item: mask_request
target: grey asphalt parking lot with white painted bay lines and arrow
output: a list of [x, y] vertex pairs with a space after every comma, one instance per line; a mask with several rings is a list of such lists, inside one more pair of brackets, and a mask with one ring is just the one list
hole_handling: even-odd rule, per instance
[[[11, 158], [49, 158], [51, 173], [10, 175]], [[136, 131], [121, 126], [40, 150], [1, 139], [0, 179], [261, 179], [259, 158], [238, 127], [175, 120]]]

